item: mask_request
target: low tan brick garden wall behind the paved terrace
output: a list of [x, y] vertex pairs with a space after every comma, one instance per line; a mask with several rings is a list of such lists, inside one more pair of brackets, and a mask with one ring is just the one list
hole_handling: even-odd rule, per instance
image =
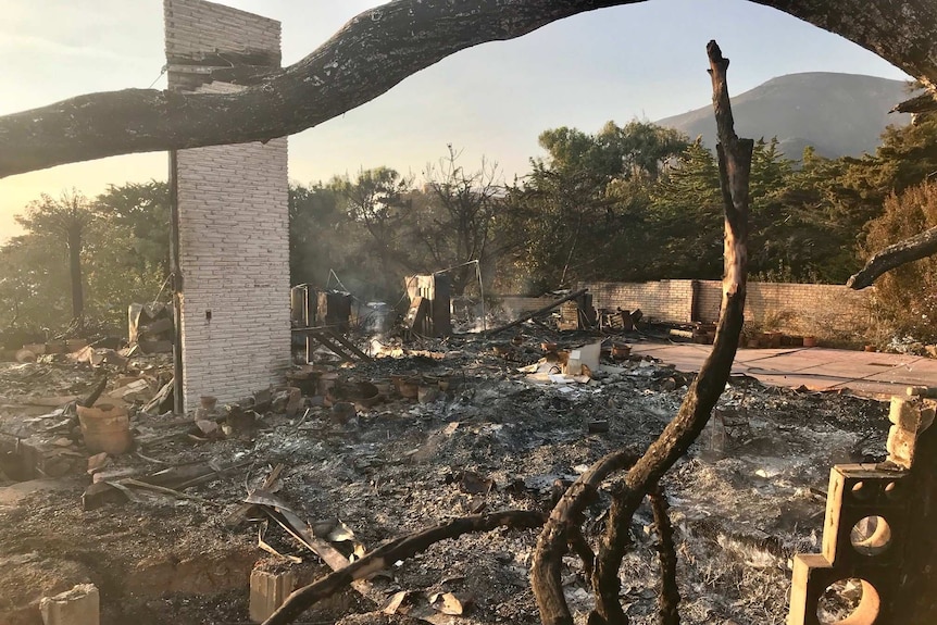
[[[715, 322], [722, 302], [719, 280], [661, 280], [657, 283], [582, 284], [594, 305], [644, 311], [653, 321]], [[791, 334], [829, 336], [862, 329], [870, 321], [871, 290], [854, 291], [840, 285], [748, 283], [747, 322]]]

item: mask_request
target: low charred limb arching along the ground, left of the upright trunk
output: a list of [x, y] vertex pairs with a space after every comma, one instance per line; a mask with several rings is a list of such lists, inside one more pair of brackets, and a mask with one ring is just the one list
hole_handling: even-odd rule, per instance
[[411, 558], [440, 540], [458, 538], [471, 532], [490, 532], [496, 527], [530, 529], [540, 527], [545, 521], [546, 518], [540, 512], [505, 510], [492, 514], [454, 518], [436, 527], [398, 538], [375, 549], [361, 560], [357, 560], [348, 566], [339, 568], [322, 579], [296, 590], [270, 618], [264, 621], [263, 625], [287, 625], [287, 623], [292, 623], [316, 602], [338, 592], [352, 582], [389, 568], [398, 560]]

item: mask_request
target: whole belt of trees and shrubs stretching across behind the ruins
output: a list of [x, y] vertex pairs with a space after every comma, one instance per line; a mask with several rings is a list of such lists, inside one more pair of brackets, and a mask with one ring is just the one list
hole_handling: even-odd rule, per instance
[[[296, 185], [289, 192], [293, 284], [334, 284], [396, 301], [407, 274], [449, 267], [457, 293], [479, 261], [492, 290], [544, 290], [578, 280], [717, 278], [723, 198], [702, 142], [654, 124], [598, 133], [544, 132], [546, 157], [513, 185], [483, 161], [466, 170], [450, 147], [421, 184], [389, 167]], [[751, 167], [750, 271], [758, 279], [842, 283], [862, 258], [934, 224], [937, 118], [889, 128], [874, 155], [799, 162], [759, 140]], [[0, 248], [0, 323], [61, 326], [68, 293], [123, 326], [126, 304], [160, 291], [168, 270], [168, 189], [112, 186], [95, 201], [43, 196], [21, 217], [27, 234]], [[875, 220], [867, 227], [870, 220]], [[867, 237], [867, 238], [866, 238]], [[77, 255], [70, 250], [78, 250]], [[919, 335], [934, 321], [934, 270], [922, 261], [883, 278], [889, 323]], [[907, 313], [898, 315], [897, 313]], [[890, 313], [889, 313], [890, 314]]]

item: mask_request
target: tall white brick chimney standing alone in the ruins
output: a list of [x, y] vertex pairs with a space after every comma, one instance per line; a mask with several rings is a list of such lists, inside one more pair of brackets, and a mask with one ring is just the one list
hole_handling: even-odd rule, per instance
[[[278, 65], [278, 22], [202, 0], [165, 0], [164, 12], [171, 89], [197, 71], [180, 58], [261, 51]], [[239, 88], [214, 82], [199, 91]], [[278, 384], [289, 366], [287, 140], [182, 150], [176, 162], [191, 410], [202, 395], [226, 402]]]

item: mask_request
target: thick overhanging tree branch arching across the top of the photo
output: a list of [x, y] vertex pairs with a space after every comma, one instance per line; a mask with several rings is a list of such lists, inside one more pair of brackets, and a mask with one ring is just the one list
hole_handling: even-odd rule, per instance
[[[267, 140], [311, 128], [459, 50], [645, 0], [396, 0], [232, 95], [126, 89], [0, 117], [0, 177], [116, 154]], [[937, 92], [937, 2], [755, 0], [841, 35]]]

